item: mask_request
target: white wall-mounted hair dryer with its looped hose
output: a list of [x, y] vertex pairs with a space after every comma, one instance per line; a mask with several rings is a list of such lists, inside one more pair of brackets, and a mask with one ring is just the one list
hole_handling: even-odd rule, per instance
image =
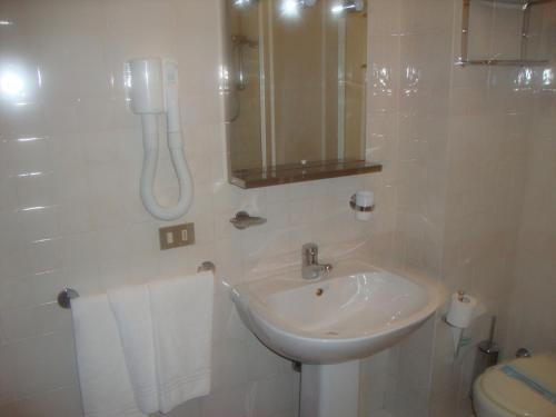
[[[191, 206], [193, 185], [183, 157], [181, 123], [178, 102], [178, 64], [160, 58], [133, 59], [127, 62], [126, 86], [130, 109], [141, 116], [145, 147], [141, 172], [141, 199], [145, 208], [161, 220], [176, 220]], [[158, 160], [158, 122], [166, 115], [167, 139], [171, 161], [178, 176], [180, 196], [175, 207], [158, 203], [155, 191], [155, 175]]]

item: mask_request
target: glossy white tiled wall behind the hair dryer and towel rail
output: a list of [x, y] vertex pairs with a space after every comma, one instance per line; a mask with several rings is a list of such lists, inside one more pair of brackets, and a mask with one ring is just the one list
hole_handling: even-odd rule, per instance
[[[54, 302], [63, 286], [96, 294], [203, 260], [218, 267], [214, 389], [172, 416], [295, 416], [298, 374], [242, 327], [224, 282], [299, 262], [310, 240], [329, 259], [332, 246], [364, 244], [375, 261], [388, 258], [393, 165], [260, 190], [227, 183], [219, 13], [217, 0], [0, 1], [0, 416], [81, 416], [70, 314]], [[123, 62], [138, 56], [180, 66], [192, 247], [159, 251], [161, 222], [139, 200], [140, 125], [122, 89]], [[385, 147], [375, 146], [387, 159]], [[366, 224], [347, 203], [358, 189], [379, 201]], [[157, 192], [162, 202], [177, 193], [166, 151]], [[240, 209], [268, 224], [235, 230], [228, 220]]]

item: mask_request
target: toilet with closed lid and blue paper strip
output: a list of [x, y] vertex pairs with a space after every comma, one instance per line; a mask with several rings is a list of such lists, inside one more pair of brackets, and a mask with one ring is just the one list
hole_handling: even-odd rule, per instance
[[473, 401], [477, 417], [556, 417], [556, 354], [488, 368], [475, 380]]

